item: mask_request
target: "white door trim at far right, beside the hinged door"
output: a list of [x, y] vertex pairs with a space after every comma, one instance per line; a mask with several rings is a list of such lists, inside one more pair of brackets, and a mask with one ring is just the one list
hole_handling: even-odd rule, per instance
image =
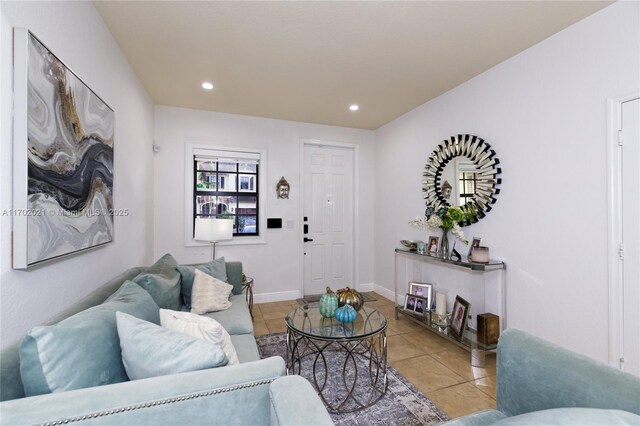
[[622, 234], [622, 157], [618, 144], [622, 130], [622, 104], [640, 98], [640, 91], [607, 99], [607, 269], [609, 287], [609, 365], [621, 368], [623, 339], [622, 265], [619, 235]]

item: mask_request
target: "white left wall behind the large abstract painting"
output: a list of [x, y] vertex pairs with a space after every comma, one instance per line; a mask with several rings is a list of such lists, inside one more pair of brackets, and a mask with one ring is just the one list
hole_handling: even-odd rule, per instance
[[31, 30], [115, 110], [115, 242], [30, 271], [11, 269], [11, 218], [0, 216], [1, 347], [129, 266], [152, 260], [153, 104], [91, 2], [1, 2], [1, 209], [12, 207], [13, 27]]

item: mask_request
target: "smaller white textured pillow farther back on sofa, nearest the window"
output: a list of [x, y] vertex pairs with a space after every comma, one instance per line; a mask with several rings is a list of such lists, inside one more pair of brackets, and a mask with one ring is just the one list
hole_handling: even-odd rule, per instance
[[206, 314], [207, 312], [223, 311], [231, 307], [229, 295], [233, 286], [199, 269], [195, 270], [191, 289], [191, 312]]

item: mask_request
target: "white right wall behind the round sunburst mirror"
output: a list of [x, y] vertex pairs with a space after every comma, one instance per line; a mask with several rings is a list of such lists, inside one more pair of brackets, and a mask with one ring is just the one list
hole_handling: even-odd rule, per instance
[[430, 152], [478, 135], [503, 185], [465, 231], [507, 262], [509, 326], [607, 362], [606, 100], [639, 88], [639, 9], [613, 4], [376, 131], [377, 285], [393, 289], [400, 239], [425, 238], [406, 222]]

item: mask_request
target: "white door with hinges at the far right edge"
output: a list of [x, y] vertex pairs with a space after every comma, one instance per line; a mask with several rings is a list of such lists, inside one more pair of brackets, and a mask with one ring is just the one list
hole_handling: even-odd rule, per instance
[[622, 104], [622, 369], [640, 376], [640, 99]]

